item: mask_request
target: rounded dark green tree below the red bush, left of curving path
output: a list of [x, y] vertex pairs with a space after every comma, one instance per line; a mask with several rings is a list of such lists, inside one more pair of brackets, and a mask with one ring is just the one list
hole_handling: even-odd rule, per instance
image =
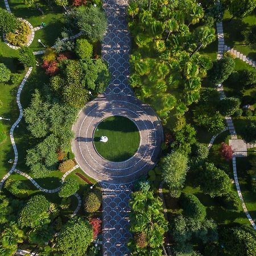
[[225, 196], [231, 190], [229, 176], [214, 166], [213, 163], [206, 163], [200, 173], [200, 187], [210, 197]]

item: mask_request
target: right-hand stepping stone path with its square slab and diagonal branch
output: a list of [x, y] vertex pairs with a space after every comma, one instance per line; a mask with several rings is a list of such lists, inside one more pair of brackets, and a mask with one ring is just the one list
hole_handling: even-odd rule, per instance
[[[218, 0], [218, 2], [220, 2]], [[223, 26], [222, 26], [222, 22], [218, 22], [216, 23], [216, 27], [217, 27], [217, 35], [218, 35], [218, 54], [217, 54], [217, 59], [221, 59], [224, 51], [230, 51], [231, 49], [229, 47], [225, 46], [224, 43], [224, 32], [223, 32]], [[233, 53], [234, 55], [238, 55], [237, 52], [231, 51], [231, 53]], [[242, 59], [243, 61], [246, 61], [246, 63], [252, 65], [253, 67], [255, 67], [255, 62], [253, 63], [252, 60], [249, 60], [248, 58], [246, 58], [246, 56], [241, 56], [239, 53], [240, 59]], [[225, 97], [225, 92], [224, 89], [222, 87], [222, 85], [218, 85], [217, 88], [218, 92], [220, 93], [220, 98], [223, 99]], [[241, 189], [240, 189], [240, 185], [238, 182], [238, 177], [237, 177], [237, 167], [236, 167], [236, 157], [239, 156], [246, 156], [247, 152], [241, 152], [241, 151], [246, 151], [247, 147], [246, 147], [246, 143], [243, 142], [241, 139], [237, 139], [237, 134], [236, 134], [236, 130], [232, 121], [231, 117], [225, 117], [226, 119], [226, 123], [228, 125], [228, 129], [231, 135], [231, 140], [229, 140], [229, 144], [234, 146], [234, 149], [236, 151], [240, 151], [240, 152], [235, 152], [233, 154], [233, 174], [234, 174], [234, 180], [236, 183], [236, 187], [237, 187], [237, 192], [238, 192], [238, 196], [240, 197], [240, 200], [242, 202], [242, 207], [243, 210], [248, 218], [248, 220], [250, 221], [250, 224], [253, 226], [253, 228], [256, 230], [256, 225], [254, 223], [254, 221], [252, 220], [249, 212], [247, 211], [247, 208], [245, 206], [245, 202], [243, 201], [243, 197], [242, 197], [242, 193], [241, 193]], [[210, 146], [210, 144], [209, 144]]]

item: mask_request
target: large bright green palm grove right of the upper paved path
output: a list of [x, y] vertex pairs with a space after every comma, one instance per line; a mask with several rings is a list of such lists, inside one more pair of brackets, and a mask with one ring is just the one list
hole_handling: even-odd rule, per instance
[[[187, 105], [199, 100], [201, 77], [210, 68], [210, 59], [199, 50], [213, 42], [214, 28], [202, 22], [204, 10], [194, 0], [175, 0], [170, 5], [132, 1], [128, 12], [138, 49], [130, 59], [135, 94], [162, 119], [172, 109], [183, 114]], [[191, 24], [197, 27], [192, 30]]]

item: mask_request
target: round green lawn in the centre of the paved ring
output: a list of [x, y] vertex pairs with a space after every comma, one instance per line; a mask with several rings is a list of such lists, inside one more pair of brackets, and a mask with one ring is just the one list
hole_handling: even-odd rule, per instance
[[[108, 142], [100, 142], [100, 137]], [[129, 118], [113, 115], [102, 120], [94, 131], [94, 146], [103, 158], [123, 162], [133, 156], [141, 141], [137, 126]]]

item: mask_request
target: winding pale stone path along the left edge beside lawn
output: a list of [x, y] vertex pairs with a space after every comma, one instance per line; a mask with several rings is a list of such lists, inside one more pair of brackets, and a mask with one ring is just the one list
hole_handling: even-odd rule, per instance
[[9, 177], [14, 172], [16, 164], [18, 162], [18, 156], [19, 155], [18, 155], [18, 150], [17, 150], [16, 144], [15, 144], [15, 140], [14, 140], [14, 129], [19, 124], [19, 122], [20, 122], [20, 120], [22, 119], [22, 116], [23, 116], [23, 109], [22, 109], [22, 105], [20, 104], [20, 93], [22, 92], [23, 86], [24, 86], [25, 82], [27, 81], [28, 76], [30, 75], [31, 72], [32, 72], [32, 67], [30, 67], [28, 69], [26, 75], [24, 76], [22, 82], [19, 85], [18, 92], [16, 94], [16, 102], [17, 102], [18, 107], [19, 107], [19, 117], [15, 121], [13, 126], [11, 126], [11, 129], [10, 129], [10, 139], [11, 139], [11, 144], [13, 145], [13, 149], [14, 149], [14, 163], [13, 163], [13, 166], [11, 167], [10, 171], [0, 181], [0, 191], [2, 189], [3, 183], [7, 179], [7, 177]]

